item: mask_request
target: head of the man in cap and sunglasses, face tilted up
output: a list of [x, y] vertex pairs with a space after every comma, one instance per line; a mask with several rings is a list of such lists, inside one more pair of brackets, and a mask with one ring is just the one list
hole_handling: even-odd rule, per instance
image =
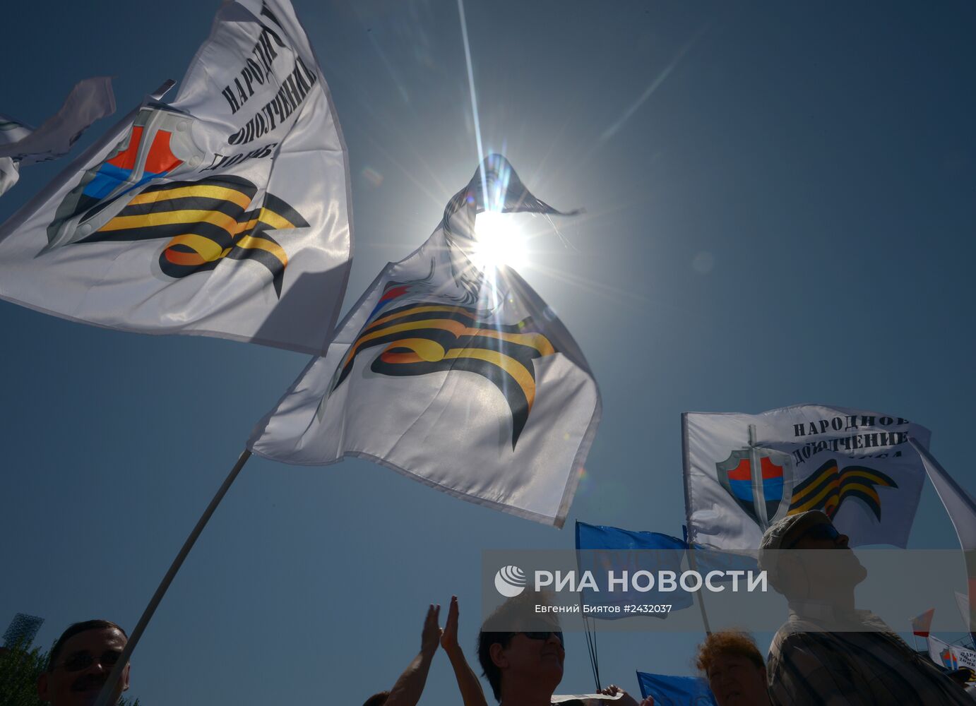
[[829, 598], [851, 592], [868, 573], [849, 541], [820, 510], [788, 515], [763, 533], [759, 566], [773, 588], [787, 598]]

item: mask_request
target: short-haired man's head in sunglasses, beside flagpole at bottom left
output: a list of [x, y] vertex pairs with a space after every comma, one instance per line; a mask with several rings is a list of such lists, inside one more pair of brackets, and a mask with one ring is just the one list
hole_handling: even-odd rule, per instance
[[[68, 626], [51, 648], [48, 669], [37, 680], [37, 694], [53, 706], [91, 704], [111, 674], [129, 636], [110, 620], [86, 620]], [[110, 703], [129, 688], [125, 666]]]

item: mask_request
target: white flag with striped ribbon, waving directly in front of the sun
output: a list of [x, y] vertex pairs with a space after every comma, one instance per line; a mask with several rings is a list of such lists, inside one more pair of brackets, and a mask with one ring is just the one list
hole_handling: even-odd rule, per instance
[[470, 264], [483, 194], [492, 211], [558, 213], [504, 158], [485, 160], [427, 242], [386, 266], [326, 356], [264, 417], [252, 451], [300, 464], [369, 458], [468, 501], [562, 526], [599, 394], [538, 294], [507, 267]]

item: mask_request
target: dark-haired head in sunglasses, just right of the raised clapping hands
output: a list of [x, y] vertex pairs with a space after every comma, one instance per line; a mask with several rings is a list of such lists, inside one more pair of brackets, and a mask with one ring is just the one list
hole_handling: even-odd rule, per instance
[[562, 681], [566, 650], [559, 623], [549, 615], [534, 614], [536, 604], [546, 604], [545, 598], [529, 593], [509, 599], [488, 616], [478, 633], [478, 662], [498, 701], [514, 687], [551, 695]]

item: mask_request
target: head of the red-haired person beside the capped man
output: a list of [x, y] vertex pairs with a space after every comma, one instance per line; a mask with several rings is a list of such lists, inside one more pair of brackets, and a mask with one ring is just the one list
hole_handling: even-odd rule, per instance
[[718, 706], [762, 706], [769, 703], [766, 663], [747, 633], [712, 633], [698, 647], [698, 668], [709, 681]]

